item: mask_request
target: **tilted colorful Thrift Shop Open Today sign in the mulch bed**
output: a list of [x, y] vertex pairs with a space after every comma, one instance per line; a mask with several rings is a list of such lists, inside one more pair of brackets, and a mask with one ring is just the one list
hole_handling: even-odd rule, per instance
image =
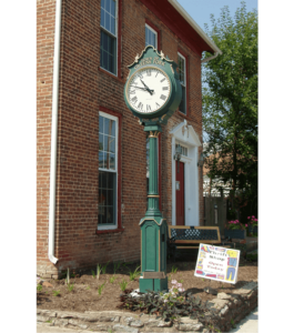
[[240, 250], [200, 244], [194, 275], [235, 284], [239, 262]]

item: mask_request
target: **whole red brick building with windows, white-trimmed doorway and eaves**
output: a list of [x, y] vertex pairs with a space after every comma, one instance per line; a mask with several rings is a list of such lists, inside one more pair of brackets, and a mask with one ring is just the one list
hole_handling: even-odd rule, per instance
[[148, 139], [123, 89], [146, 44], [179, 63], [183, 91], [159, 140], [161, 210], [203, 223], [201, 58], [221, 51], [175, 0], [38, 0], [37, 273], [140, 259]]

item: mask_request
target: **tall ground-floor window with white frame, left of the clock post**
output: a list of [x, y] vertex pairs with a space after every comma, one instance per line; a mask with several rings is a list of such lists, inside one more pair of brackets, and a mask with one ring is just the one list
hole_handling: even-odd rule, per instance
[[118, 225], [118, 118], [99, 112], [99, 229]]

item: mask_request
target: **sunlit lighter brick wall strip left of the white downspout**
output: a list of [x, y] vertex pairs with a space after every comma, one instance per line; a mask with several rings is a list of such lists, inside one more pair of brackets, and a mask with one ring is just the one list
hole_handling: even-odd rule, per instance
[[55, 1], [36, 2], [36, 253], [37, 270], [55, 274], [48, 260], [50, 141]]

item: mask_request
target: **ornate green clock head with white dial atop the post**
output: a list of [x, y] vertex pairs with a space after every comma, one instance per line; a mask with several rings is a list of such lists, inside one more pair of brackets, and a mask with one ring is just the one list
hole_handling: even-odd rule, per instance
[[158, 119], [158, 123], [166, 123], [179, 107], [182, 88], [176, 67], [174, 61], [151, 46], [129, 65], [124, 100], [141, 122]]

